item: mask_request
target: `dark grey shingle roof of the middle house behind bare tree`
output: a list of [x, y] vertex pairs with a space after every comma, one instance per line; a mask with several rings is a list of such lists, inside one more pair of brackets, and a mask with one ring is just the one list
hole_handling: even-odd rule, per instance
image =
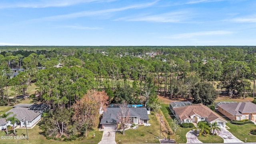
[[[118, 121], [118, 115], [120, 108], [106, 108], [103, 112], [102, 120], [100, 124], [110, 124], [107, 121], [113, 121], [114, 124]], [[148, 112], [146, 108], [129, 108], [130, 117], [139, 117], [142, 120], [149, 120]]]

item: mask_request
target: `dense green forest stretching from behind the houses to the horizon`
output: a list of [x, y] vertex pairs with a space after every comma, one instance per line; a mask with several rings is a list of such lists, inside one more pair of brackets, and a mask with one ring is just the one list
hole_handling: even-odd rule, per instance
[[[104, 105], [126, 100], [155, 112], [157, 94], [210, 106], [217, 92], [255, 93], [256, 46], [0, 46], [0, 64], [0, 105], [34, 83], [50, 116], [86, 103], [90, 90], [106, 92]], [[13, 68], [24, 71], [12, 77]]]

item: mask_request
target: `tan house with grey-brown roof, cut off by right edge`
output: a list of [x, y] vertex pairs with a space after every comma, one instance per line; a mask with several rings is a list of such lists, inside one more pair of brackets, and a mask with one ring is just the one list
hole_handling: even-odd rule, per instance
[[218, 111], [230, 120], [256, 120], [256, 104], [252, 102], [219, 104]]

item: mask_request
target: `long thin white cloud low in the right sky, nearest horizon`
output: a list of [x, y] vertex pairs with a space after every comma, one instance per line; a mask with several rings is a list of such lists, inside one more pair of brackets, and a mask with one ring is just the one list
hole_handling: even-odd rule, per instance
[[193, 38], [195, 36], [212, 36], [212, 35], [226, 35], [232, 34], [234, 32], [226, 31], [226, 30], [215, 30], [215, 31], [204, 31], [204, 32], [192, 32], [192, 33], [183, 33], [176, 34], [173, 36], [165, 36], [162, 38], [170, 38], [170, 39], [183, 39], [183, 38]]

